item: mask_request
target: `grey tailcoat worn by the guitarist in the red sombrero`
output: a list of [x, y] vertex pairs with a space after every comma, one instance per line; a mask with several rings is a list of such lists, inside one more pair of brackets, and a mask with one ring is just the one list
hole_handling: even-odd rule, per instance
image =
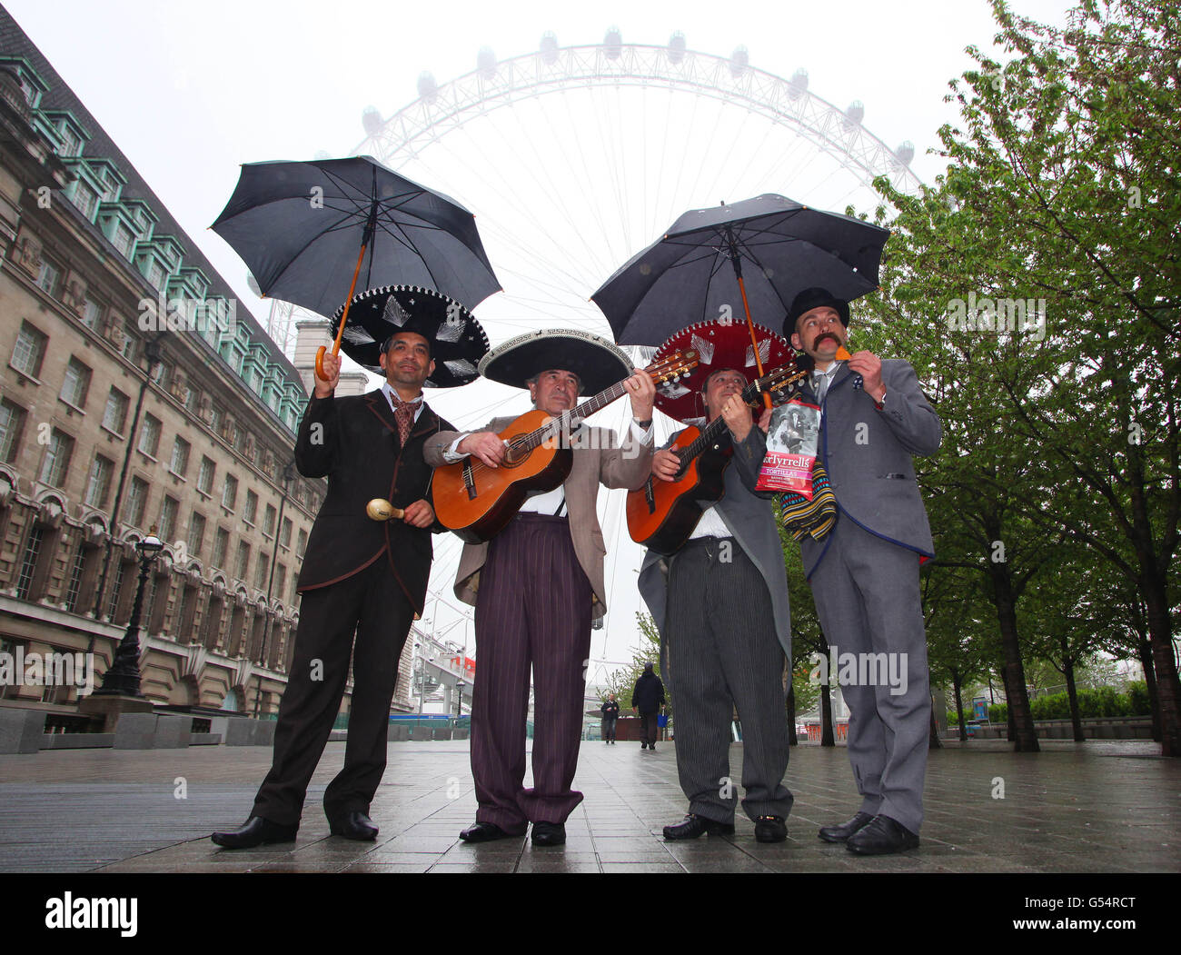
[[[676, 437], [676, 435], [673, 435]], [[758, 470], [766, 454], [766, 443], [758, 428], [733, 446], [733, 457], [723, 475], [725, 493], [713, 509], [730, 530], [735, 541], [758, 569], [771, 595], [775, 632], [783, 652], [791, 660], [791, 609], [788, 603], [788, 572], [783, 563], [783, 544], [776, 525], [769, 493], [755, 491]], [[668, 593], [667, 572], [677, 556], [665, 559], [655, 551], [644, 554], [640, 565], [640, 596], [660, 631], [661, 658], [665, 641], [665, 604]], [[663, 674], [668, 673], [661, 667]]]

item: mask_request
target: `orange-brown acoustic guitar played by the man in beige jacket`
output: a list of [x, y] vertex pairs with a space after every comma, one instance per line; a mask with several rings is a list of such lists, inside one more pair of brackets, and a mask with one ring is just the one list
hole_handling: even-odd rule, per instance
[[[653, 382], [676, 381], [697, 368], [697, 352], [677, 351], [644, 369]], [[490, 468], [466, 457], [435, 469], [432, 504], [439, 524], [469, 544], [491, 540], [521, 509], [529, 492], [553, 491], [574, 463], [570, 435], [586, 418], [625, 394], [625, 378], [576, 408], [550, 417], [527, 411], [500, 433], [504, 460]]]

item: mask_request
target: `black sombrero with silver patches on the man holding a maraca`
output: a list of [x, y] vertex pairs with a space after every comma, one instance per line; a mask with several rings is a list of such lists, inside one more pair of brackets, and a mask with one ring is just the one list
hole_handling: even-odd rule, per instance
[[[345, 308], [332, 317], [335, 336]], [[370, 288], [350, 303], [348, 324], [340, 349], [357, 364], [385, 377], [381, 345], [394, 332], [417, 332], [431, 343], [435, 371], [428, 388], [457, 388], [479, 377], [479, 359], [488, 352], [488, 336], [471, 312], [455, 299], [430, 288], [394, 285]]]

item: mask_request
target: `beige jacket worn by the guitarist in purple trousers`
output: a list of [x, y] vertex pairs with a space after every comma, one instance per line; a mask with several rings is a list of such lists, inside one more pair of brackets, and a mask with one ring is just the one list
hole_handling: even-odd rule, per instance
[[[495, 418], [483, 429], [502, 431], [516, 418]], [[592, 434], [594, 433], [594, 434]], [[459, 437], [461, 431], [439, 431], [426, 442], [426, 463], [439, 467], [446, 462], [443, 451]], [[652, 446], [642, 444], [632, 436], [631, 427], [619, 444], [615, 433], [607, 428], [583, 425], [575, 435], [570, 475], [562, 488], [566, 493], [566, 509], [570, 525], [574, 553], [579, 558], [590, 587], [594, 591], [592, 618], [607, 612], [607, 591], [603, 584], [602, 558], [607, 546], [599, 526], [596, 504], [599, 485], [626, 487], [634, 491], [644, 486], [652, 469]], [[459, 556], [459, 570], [455, 576], [455, 596], [465, 604], [476, 605], [479, 586], [479, 569], [488, 560], [488, 544], [464, 544]]]

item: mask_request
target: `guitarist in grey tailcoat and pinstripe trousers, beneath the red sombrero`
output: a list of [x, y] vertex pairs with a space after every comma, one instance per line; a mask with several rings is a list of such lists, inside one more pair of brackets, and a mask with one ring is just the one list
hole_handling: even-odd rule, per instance
[[[755, 838], [788, 837], [792, 797], [783, 785], [790, 749], [782, 682], [784, 658], [791, 657], [788, 580], [771, 495], [755, 492], [766, 446], [740, 397], [745, 386], [746, 377], [733, 369], [716, 369], [703, 382], [707, 416], [725, 420], [725, 440], [733, 446], [725, 493], [677, 553], [663, 558], [650, 550], [640, 567], [640, 593], [660, 631], [660, 669], [676, 700], [677, 772], [689, 799], [689, 814], [665, 826], [666, 839], [733, 832], [733, 708], [743, 728], [742, 805]], [[653, 456], [659, 480], [671, 480], [679, 467], [671, 450]]]

